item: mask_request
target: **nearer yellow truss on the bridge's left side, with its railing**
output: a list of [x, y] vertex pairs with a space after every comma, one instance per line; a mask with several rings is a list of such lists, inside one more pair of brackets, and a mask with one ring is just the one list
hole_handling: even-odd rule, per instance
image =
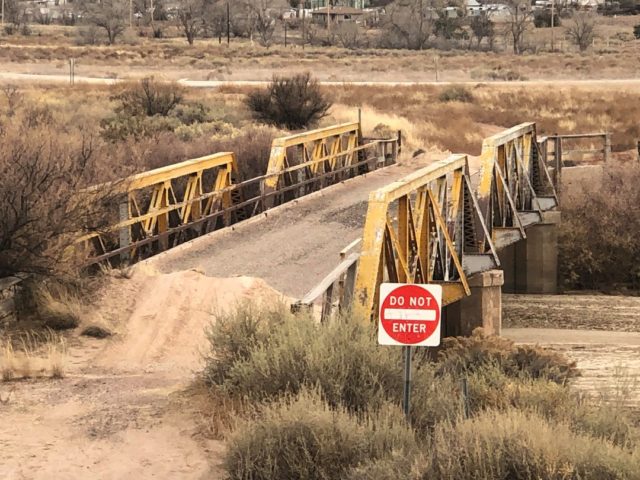
[[[233, 153], [223, 152], [129, 177], [122, 190], [118, 221], [78, 240], [89, 263], [119, 257], [135, 260], [229, 223], [229, 187], [236, 171]], [[94, 189], [112, 188], [97, 185]], [[223, 212], [222, 219], [219, 213]]]

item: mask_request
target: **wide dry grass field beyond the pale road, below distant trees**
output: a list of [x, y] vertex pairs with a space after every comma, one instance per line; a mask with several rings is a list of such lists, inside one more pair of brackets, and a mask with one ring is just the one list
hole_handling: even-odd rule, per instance
[[[82, 74], [103, 76], [144, 76], [145, 68], [162, 68], [172, 78], [262, 79], [269, 80], [274, 70], [281, 74], [309, 70], [323, 80], [435, 80], [434, 56], [438, 56], [441, 80], [490, 80], [506, 70], [519, 78], [620, 78], [633, 77], [640, 60], [638, 43], [633, 41], [637, 17], [598, 18], [595, 47], [579, 54], [564, 37], [564, 28], [556, 28], [557, 53], [549, 53], [550, 29], [531, 29], [527, 33], [530, 49], [514, 56], [508, 52], [466, 50], [381, 50], [344, 49], [307, 46], [285, 48], [282, 39], [265, 49], [247, 40], [234, 39], [230, 47], [216, 39], [198, 39], [193, 46], [183, 38], [153, 40], [130, 35], [125, 43], [107, 46], [76, 46], [73, 28], [34, 26], [31, 37], [5, 37], [0, 62], [36, 64], [42, 69], [64, 72], [60, 59], [78, 59]], [[133, 32], [132, 32], [133, 34]], [[178, 34], [175, 27], [165, 29], [167, 36]], [[290, 32], [295, 35], [295, 32]], [[291, 36], [290, 36], [291, 38]], [[502, 35], [498, 35], [502, 43]], [[502, 48], [502, 47], [501, 47]], [[372, 77], [373, 76], [373, 77]]]

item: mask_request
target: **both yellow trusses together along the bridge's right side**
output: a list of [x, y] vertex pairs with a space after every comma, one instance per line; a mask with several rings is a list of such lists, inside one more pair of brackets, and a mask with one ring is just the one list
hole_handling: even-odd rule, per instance
[[480, 159], [478, 182], [467, 157], [452, 155], [371, 194], [357, 315], [375, 316], [383, 282], [439, 283], [445, 305], [460, 300], [468, 276], [499, 267], [496, 250], [526, 238], [558, 205], [534, 123], [487, 138]]

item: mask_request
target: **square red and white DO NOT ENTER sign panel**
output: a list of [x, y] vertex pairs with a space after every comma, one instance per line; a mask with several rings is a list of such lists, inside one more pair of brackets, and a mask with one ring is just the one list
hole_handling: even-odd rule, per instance
[[380, 345], [440, 345], [442, 287], [408, 283], [380, 285]]

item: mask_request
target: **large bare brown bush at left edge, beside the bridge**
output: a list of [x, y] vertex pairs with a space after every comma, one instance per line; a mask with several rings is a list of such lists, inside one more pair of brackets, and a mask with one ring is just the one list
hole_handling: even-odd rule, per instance
[[0, 277], [73, 275], [69, 247], [103, 228], [106, 206], [121, 195], [85, 188], [94, 181], [95, 146], [61, 142], [56, 128], [16, 121], [0, 133]]

